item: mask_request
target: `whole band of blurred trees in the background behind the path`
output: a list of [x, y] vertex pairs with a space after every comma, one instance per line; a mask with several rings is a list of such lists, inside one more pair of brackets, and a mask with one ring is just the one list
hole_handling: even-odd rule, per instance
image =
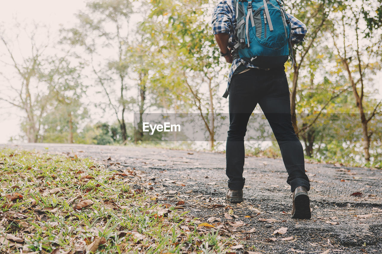
[[[229, 65], [211, 32], [216, 3], [89, 1], [76, 24], [62, 27], [55, 39], [39, 24], [3, 26], [0, 100], [23, 111], [21, 139], [139, 144], [149, 138], [142, 132], [144, 114], [193, 113], [204, 148], [223, 150], [217, 133], [227, 127], [228, 101], [221, 96]], [[294, 46], [295, 64], [285, 65], [291, 120], [306, 157], [382, 167], [382, 1], [286, 5], [308, 27], [304, 42]], [[20, 48], [20, 41], [28, 47]], [[249, 122], [248, 129], [258, 131], [248, 137], [259, 142], [247, 151], [277, 156], [261, 121], [254, 114]]]

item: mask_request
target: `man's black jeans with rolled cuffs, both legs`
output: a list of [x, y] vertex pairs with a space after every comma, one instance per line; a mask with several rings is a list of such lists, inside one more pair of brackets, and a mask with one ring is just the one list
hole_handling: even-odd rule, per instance
[[229, 95], [230, 129], [226, 149], [228, 188], [243, 189], [244, 136], [249, 117], [259, 103], [280, 147], [288, 172], [286, 182], [291, 186], [291, 191], [298, 186], [305, 186], [309, 190], [303, 146], [291, 122], [289, 88], [284, 67], [270, 71], [251, 68], [234, 75]]

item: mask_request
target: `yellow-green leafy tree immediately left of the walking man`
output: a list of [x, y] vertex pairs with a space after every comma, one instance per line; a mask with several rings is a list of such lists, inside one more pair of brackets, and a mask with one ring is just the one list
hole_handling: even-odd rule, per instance
[[[216, 91], [222, 66], [219, 65], [214, 38], [209, 33], [210, 16], [206, 11], [209, 3], [194, 0], [180, 5], [172, 0], [155, 0], [152, 5], [145, 31], [152, 31], [152, 37], [157, 40], [154, 47], [167, 58], [163, 69], [170, 71], [165, 72], [182, 75], [181, 85], [188, 88], [188, 92], [182, 90], [185, 94], [181, 100], [189, 101], [191, 98], [204, 123], [209, 149], [212, 150], [220, 98]], [[187, 102], [181, 104], [186, 105]]]

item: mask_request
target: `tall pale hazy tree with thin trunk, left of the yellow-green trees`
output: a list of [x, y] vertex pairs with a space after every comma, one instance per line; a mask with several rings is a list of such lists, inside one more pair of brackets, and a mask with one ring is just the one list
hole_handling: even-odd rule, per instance
[[127, 140], [125, 114], [128, 94], [129, 23], [132, 13], [129, 0], [94, 1], [86, 12], [77, 14], [78, 25], [63, 30], [63, 42], [78, 45], [89, 56], [95, 80], [106, 96], [120, 124], [122, 140]]

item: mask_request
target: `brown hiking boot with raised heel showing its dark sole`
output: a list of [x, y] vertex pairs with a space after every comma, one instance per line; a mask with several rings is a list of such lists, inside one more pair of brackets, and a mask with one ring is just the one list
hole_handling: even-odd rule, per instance
[[310, 219], [309, 196], [306, 188], [298, 186], [291, 196], [293, 196], [292, 219]]

